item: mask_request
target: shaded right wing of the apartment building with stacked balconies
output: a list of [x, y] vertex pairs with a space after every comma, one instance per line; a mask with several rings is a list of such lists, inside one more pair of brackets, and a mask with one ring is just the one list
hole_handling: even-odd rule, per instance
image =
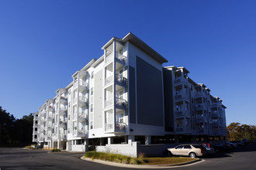
[[226, 136], [225, 106], [203, 83], [195, 83], [185, 67], [164, 67], [166, 134], [180, 141], [206, 141]]

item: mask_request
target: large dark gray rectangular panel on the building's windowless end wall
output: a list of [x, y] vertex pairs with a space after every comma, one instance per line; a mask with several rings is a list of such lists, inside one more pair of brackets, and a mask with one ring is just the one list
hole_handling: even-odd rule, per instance
[[137, 123], [164, 126], [162, 74], [137, 56]]

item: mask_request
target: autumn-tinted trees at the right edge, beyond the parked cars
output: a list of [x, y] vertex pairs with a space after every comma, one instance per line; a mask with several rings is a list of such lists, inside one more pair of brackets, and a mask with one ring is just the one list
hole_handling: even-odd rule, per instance
[[227, 126], [227, 140], [238, 141], [243, 138], [256, 139], [256, 126], [233, 122]]

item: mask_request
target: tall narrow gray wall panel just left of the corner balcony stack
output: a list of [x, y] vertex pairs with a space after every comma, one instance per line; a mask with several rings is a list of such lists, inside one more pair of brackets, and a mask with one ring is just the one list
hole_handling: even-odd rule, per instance
[[102, 128], [102, 70], [95, 73], [94, 82], [94, 128]]

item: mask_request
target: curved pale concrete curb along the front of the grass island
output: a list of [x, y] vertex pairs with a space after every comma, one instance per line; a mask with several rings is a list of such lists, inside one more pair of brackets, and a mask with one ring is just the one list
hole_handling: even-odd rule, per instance
[[180, 164], [168, 164], [168, 165], [130, 165], [130, 164], [122, 164], [122, 163], [117, 163], [117, 162], [107, 162], [107, 161], [102, 161], [99, 159], [92, 159], [92, 158], [85, 158], [84, 156], [81, 157], [82, 160], [88, 161], [88, 162], [95, 162], [103, 165], [110, 165], [110, 166], [116, 166], [116, 167], [123, 167], [123, 168], [175, 168], [178, 166], [187, 166], [187, 165], [193, 165], [199, 162], [203, 162], [203, 159], [196, 159], [191, 162], [185, 162], [185, 163], [180, 163]]

